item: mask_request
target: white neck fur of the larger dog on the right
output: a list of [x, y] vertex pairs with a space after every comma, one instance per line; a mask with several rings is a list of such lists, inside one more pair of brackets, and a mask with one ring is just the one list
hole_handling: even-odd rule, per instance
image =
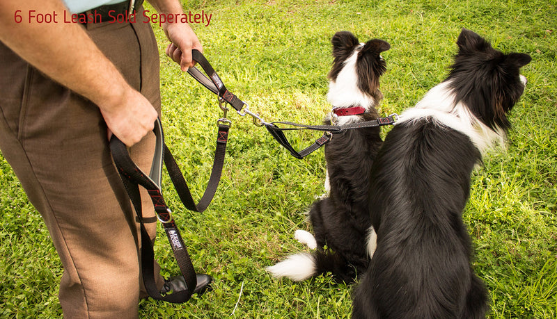
[[493, 131], [480, 122], [466, 106], [455, 103], [455, 94], [449, 88], [450, 82], [443, 82], [425, 94], [414, 108], [404, 111], [395, 124], [415, 122], [425, 117], [448, 126], [468, 136], [474, 145], [484, 152], [496, 143], [504, 146], [505, 133], [502, 129]]

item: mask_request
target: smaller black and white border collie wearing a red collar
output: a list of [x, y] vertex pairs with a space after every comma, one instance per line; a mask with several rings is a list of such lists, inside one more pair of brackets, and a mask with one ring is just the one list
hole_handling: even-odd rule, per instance
[[[333, 111], [325, 124], [377, 119], [376, 106], [383, 98], [379, 77], [386, 71], [381, 53], [390, 49], [389, 43], [374, 39], [363, 44], [347, 31], [336, 33], [331, 42], [334, 62], [327, 99]], [[381, 145], [378, 127], [336, 134], [325, 145], [328, 195], [317, 199], [308, 213], [315, 238], [307, 231], [295, 232], [297, 240], [317, 250], [294, 254], [268, 267], [274, 277], [302, 281], [332, 272], [337, 281], [350, 282], [367, 269], [370, 257], [366, 243], [371, 225], [368, 185], [371, 165]]]

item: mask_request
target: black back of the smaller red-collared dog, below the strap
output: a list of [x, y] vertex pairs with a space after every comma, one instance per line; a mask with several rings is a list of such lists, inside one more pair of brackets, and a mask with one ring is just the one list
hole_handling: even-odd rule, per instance
[[[377, 127], [347, 131], [326, 145], [331, 189], [309, 213], [318, 247], [317, 274], [331, 272], [339, 281], [352, 282], [368, 267], [368, 188], [373, 159], [381, 145]], [[325, 245], [328, 250], [322, 250]]]

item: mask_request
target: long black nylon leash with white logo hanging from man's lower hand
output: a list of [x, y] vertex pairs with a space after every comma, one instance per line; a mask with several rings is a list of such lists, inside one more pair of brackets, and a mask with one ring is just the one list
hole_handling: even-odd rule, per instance
[[[162, 132], [162, 126], [160, 120], [157, 119], [155, 122], [155, 129], [153, 130], [157, 139], [155, 143], [155, 156], [153, 158], [152, 167], [149, 176], [144, 174], [139, 167], [135, 165], [130, 158], [130, 154], [127, 152], [127, 148], [123, 142], [118, 140], [116, 136], [112, 136], [110, 140], [110, 149], [113, 156], [114, 163], [120, 174], [125, 189], [130, 196], [134, 210], [140, 222], [141, 229], [141, 266], [142, 266], [142, 276], [143, 283], [146, 286], [146, 291], [155, 300], [164, 300], [166, 302], [172, 303], [182, 303], [187, 302], [191, 298], [191, 293], [197, 285], [196, 272], [194, 266], [191, 263], [191, 259], [187, 252], [187, 248], [180, 236], [180, 231], [176, 227], [175, 221], [171, 215], [171, 211], [166, 206], [164, 202], [164, 197], [162, 196], [161, 190], [161, 177], [162, 177], [162, 163], [164, 158], [164, 163], [166, 164], [166, 170], [170, 174], [173, 183], [176, 184], [175, 180], [180, 180], [180, 188], [177, 188], [178, 195], [182, 199], [183, 204], [194, 211], [203, 211], [212, 200], [217, 186], [219, 184], [219, 179], [221, 177], [221, 170], [223, 167], [224, 154], [226, 153], [226, 142], [228, 141], [228, 126], [219, 125], [219, 135], [217, 136], [217, 150], [215, 151], [215, 161], [213, 165], [213, 170], [211, 173], [209, 186], [205, 191], [205, 195], [202, 198], [200, 204], [195, 204], [191, 193], [189, 193], [189, 188], [185, 182], [182, 172], [178, 164], [175, 163], [171, 152], [168, 147], [164, 144], [164, 137]], [[170, 159], [167, 159], [170, 158]], [[169, 165], [169, 162], [172, 165]], [[180, 178], [178, 178], [180, 176]], [[155, 285], [155, 272], [154, 272], [154, 261], [155, 254], [153, 252], [153, 246], [150, 240], [150, 236], [146, 231], [143, 222], [143, 210], [141, 208], [141, 196], [139, 195], [139, 185], [146, 188], [148, 191], [152, 204], [155, 207], [155, 213], [157, 213], [157, 218], [162, 222], [164, 231], [168, 238], [168, 242], [171, 244], [176, 262], [180, 268], [180, 272], [185, 278], [185, 283], [187, 289], [185, 291], [174, 292], [168, 295], [161, 295], [160, 291]], [[188, 198], [187, 201], [184, 198]], [[203, 209], [201, 209], [203, 208]]]

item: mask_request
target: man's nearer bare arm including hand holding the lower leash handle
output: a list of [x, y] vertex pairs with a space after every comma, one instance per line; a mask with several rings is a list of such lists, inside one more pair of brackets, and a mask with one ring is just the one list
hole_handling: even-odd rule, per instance
[[[109, 129], [126, 145], [152, 130], [157, 112], [125, 81], [78, 24], [15, 22], [15, 12], [58, 13], [61, 0], [1, 0], [0, 41], [58, 83], [93, 101]], [[79, 81], [76, 81], [79, 79]]]

